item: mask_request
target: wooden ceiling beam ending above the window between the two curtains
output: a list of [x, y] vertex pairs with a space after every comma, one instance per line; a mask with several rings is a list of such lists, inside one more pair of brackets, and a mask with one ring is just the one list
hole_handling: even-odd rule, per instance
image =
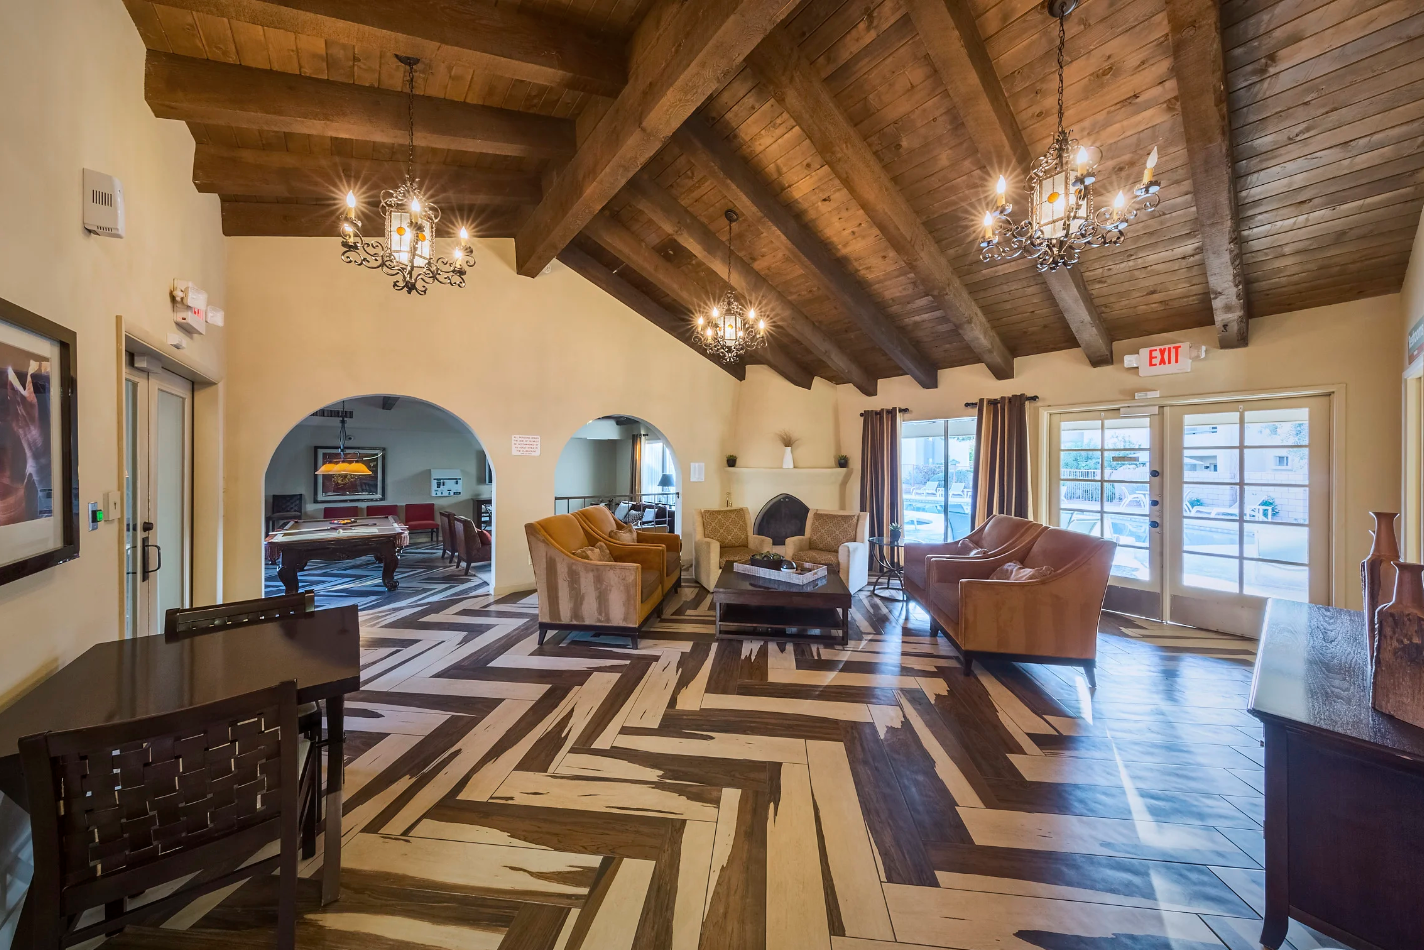
[[678, 128], [672, 141], [739, 211], [753, 216], [900, 369], [926, 389], [938, 385], [934, 363], [880, 312], [874, 298], [842, 266], [820, 238], [772, 194], [770, 187], [736, 154], [731, 142], [696, 115]]

